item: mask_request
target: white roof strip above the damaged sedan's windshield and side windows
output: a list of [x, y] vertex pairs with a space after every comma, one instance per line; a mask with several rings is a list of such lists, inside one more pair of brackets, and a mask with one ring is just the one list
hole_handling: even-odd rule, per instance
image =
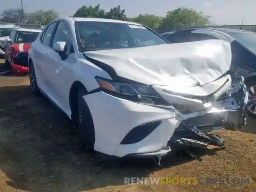
[[129, 22], [129, 21], [122, 21], [122, 20], [114, 20], [114, 19], [102, 19], [102, 18], [90, 18], [90, 17], [64, 17], [64, 18], [58, 18], [62, 20], [75, 20], [75, 21], [94, 21], [94, 22], [113, 22], [113, 23], [124, 23], [124, 24], [137, 24], [141, 25], [139, 23], [135, 22]]

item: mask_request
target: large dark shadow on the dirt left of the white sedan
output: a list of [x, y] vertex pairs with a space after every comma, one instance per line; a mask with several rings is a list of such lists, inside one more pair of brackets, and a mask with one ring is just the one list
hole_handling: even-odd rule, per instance
[[[76, 126], [46, 98], [32, 96], [28, 86], [0, 87], [0, 96], [0, 169], [14, 188], [91, 190], [191, 161], [181, 151], [166, 156], [162, 167], [152, 159], [88, 154], [80, 147]], [[206, 152], [214, 154], [216, 149], [198, 155]]]

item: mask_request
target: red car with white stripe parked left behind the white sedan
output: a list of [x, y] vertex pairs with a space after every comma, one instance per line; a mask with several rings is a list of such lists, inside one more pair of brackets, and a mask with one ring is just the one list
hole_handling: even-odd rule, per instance
[[6, 38], [4, 59], [12, 72], [28, 74], [28, 50], [40, 32], [41, 30], [16, 28]]

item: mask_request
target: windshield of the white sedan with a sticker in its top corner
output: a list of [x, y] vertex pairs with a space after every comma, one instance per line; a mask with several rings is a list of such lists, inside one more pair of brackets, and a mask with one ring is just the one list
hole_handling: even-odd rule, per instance
[[141, 25], [114, 22], [76, 22], [80, 52], [134, 48], [167, 44], [164, 39]]

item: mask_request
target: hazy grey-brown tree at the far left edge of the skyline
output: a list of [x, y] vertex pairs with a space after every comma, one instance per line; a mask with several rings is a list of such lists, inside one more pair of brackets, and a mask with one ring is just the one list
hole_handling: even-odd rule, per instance
[[[28, 14], [24, 15], [24, 22], [28, 18]], [[21, 9], [7, 9], [2, 12], [0, 22], [6, 23], [22, 23], [22, 10]]]

